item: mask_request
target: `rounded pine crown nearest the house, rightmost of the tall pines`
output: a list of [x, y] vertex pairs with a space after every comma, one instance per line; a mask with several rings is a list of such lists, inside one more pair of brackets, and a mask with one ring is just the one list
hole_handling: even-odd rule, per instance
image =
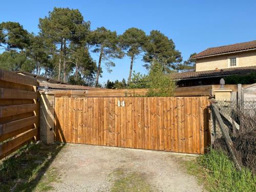
[[[176, 69], [177, 63], [182, 61], [181, 53], [175, 49], [172, 39], [168, 39], [163, 33], [152, 30], [148, 40], [144, 45], [145, 55], [143, 60], [147, 63], [157, 61], [164, 67], [164, 71], [169, 72]], [[146, 64], [146, 68], [150, 65]]]

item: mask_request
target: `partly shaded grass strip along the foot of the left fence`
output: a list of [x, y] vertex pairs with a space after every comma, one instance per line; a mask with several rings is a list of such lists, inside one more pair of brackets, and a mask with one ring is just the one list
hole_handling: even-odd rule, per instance
[[48, 169], [62, 146], [30, 143], [0, 162], [0, 191], [49, 191], [57, 182], [54, 168]]

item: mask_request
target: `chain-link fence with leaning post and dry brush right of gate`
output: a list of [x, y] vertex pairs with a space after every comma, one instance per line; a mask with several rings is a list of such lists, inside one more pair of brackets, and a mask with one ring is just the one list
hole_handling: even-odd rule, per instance
[[211, 100], [213, 146], [256, 172], [256, 100]]

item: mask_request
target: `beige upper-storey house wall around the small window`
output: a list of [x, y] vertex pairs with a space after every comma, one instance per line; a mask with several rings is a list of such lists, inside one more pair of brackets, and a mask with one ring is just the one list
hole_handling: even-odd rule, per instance
[[229, 68], [230, 57], [237, 57], [237, 67], [256, 66], [256, 50], [196, 59], [196, 71]]

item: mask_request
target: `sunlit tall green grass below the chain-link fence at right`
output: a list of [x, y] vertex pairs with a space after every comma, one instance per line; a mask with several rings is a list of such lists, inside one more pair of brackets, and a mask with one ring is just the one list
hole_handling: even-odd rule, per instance
[[211, 149], [196, 161], [187, 161], [187, 171], [196, 175], [209, 191], [255, 191], [256, 177], [248, 168], [239, 172], [228, 156]]

